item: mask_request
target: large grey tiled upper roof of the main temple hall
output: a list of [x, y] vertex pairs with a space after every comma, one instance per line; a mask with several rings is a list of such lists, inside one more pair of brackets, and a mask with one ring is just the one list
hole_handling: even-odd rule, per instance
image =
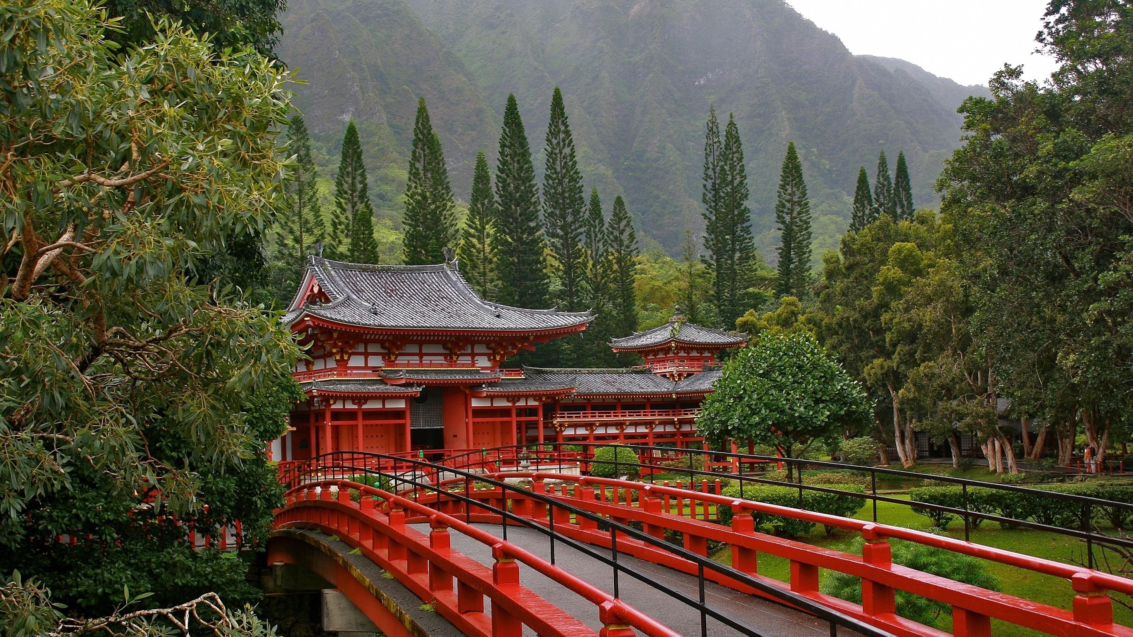
[[[325, 294], [325, 303], [317, 300]], [[303, 317], [374, 329], [552, 332], [586, 329], [589, 312], [526, 309], [482, 299], [457, 262], [369, 265], [310, 256], [283, 322]]]

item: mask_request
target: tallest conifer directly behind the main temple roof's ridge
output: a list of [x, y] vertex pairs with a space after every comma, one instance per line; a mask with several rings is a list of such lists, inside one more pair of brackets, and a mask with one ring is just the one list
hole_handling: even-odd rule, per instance
[[421, 97], [417, 102], [414, 147], [406, 181], [402, 254], [408, 265], [445, 261], [445, 249], [451, 249], [457, 243], [454, 209], [441, 138], [433, 129], [425, 97]]

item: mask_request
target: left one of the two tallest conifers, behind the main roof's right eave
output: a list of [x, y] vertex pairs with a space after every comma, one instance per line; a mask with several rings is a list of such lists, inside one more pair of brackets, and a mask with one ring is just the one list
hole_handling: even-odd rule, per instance
[[495, 189], [500, 300], [521, 307], [548, 307], [550, 283], [545, 244], [539, 229], [539, 193], [516, 95], [508, 95], [503, 113]]

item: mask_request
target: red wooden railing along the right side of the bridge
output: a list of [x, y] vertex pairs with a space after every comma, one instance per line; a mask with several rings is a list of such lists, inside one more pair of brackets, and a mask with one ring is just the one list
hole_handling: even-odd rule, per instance
[[[1133, 595], [1133, 580], [1124, 577], [903, 527], [738, 500], [714, 493], [707, 482], [702, 483], [702, 491], [696, 492], [616, 478], [537, 473], [525, 474], [525, 477], [535, 481], [536, 489], [540, 482], [562, 483], [559, 496], [588, 511], [611, 519], [638, 523], [647, 530], [662, 535], [664, 529], [679, 532], [684, 547], [700, 554], [707, 554], [709, 542], [730, 545], [733, 567], [765, 581], [772, 580], [759, 576], [757, 554], [767, 553], [786, 559], [791, 564], [790, 581], [778, 585], [884, 627], [895, 635], [942, 635], [935, 629], [894, 615], [895, 592], [905, 591], [951, 604], [956, 635], [989, 636], [990, 620], [998, 619], [1050, 635], [1133, 636], [1133, 629], [1113, 623], [1113, 601], [1106, 594], [1117, 592]], [[675, 513], [667, 509], [670, 499], [676, 501]], [[688, 503], [687, 510], [684, 502]], [[721, 507], [730, 507], [733, 511], [730, 526], [708, 521], [709, 510], [718, 510]], [[758, 533], [752, 513], [780, 516], [860, 533], [866, 542], [862, 554], [854, 555]], [[565, 528], [572, 527], [563, 527], [561, 530]], [[585, 525], [580, 525], [574, 536], [586, 532]], [[888, 544], [891, 538], [1066, 579], [1075, 593], [1072, 609], [1058, 609], [894, 564]], [[670, 555], [654, 552], [651, 547], [636, 557], [685, 571], [691, 568]], [[819, 569], [862, 578], [862, 603], [852, 604], [823, 594], [818, 587]], [[722, 584], [729, 585], [726, 580]], [[742, 584], [733, 587], [744, 589]]]

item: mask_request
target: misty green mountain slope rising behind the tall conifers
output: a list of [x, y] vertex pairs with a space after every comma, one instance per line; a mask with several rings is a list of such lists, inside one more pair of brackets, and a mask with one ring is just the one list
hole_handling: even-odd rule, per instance
[[333, 152], [346, 113], [365, 122], [380, 206], [397, 207], [416, 95], [467, 197], [476, 148], [494, 155], [506, 94], [538, 152], [557, 85], [587, 186], [624, 195], [640, 235], [671, 253], [702, 224], [709, 102], [735, 113], [768, 256], [778, 167], [795, 142], [817, 256], [836, 245], [858, 167], [872, 170], [880, 147], [904, 150], [917, 203], [936, 203], [940, 162], [959, 145], [955, 110], [980, 90], [854, 57], [783, 0], [305, 0], [284, 25], [281, 56], [310, 83], [298, 103], [316, 139]]

